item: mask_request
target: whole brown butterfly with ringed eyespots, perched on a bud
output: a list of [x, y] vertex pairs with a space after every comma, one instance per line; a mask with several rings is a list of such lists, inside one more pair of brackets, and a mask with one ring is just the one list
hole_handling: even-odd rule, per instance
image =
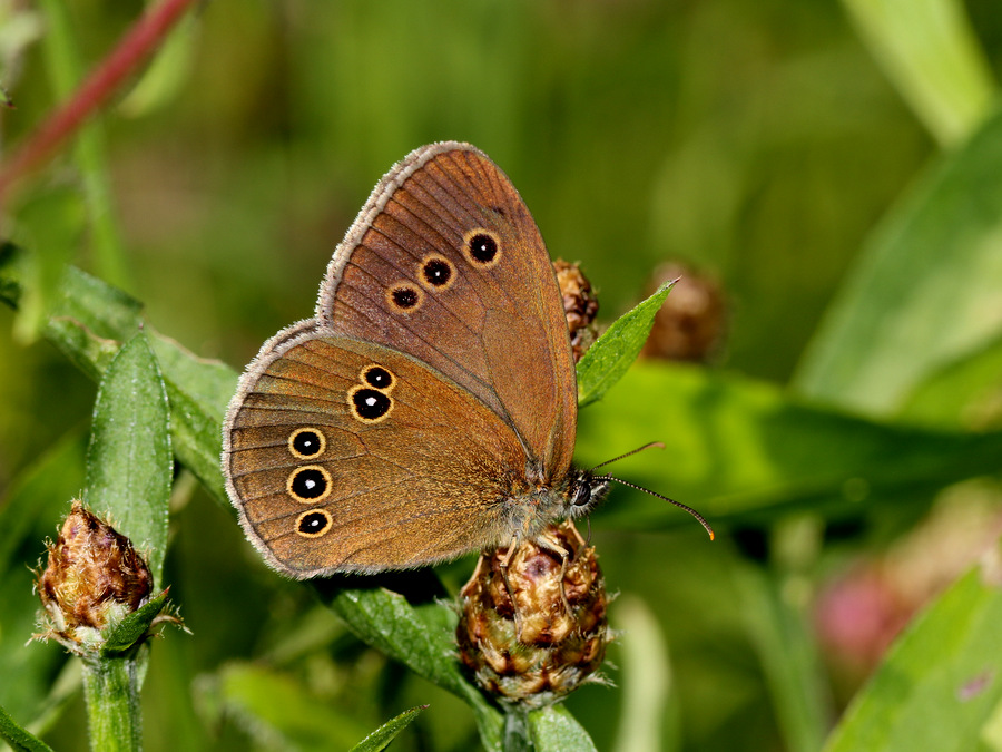
[[536, 538], [608, 481], [571, 466], [577, 385], [528, 207], [466, 144], [395, 165], [313, 319], [268, 340], [224, 423], [247, 537], [294, 577], [403, 569]]

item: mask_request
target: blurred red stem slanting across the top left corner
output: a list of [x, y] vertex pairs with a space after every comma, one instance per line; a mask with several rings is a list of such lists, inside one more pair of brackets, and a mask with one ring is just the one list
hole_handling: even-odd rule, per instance
[[146, 11], [69, 101], [49, 115], [7, 164], [0, 165], [0, 211], [11, 185], [45, 164], [67, 138], [79, 130], [87, 117], [101, 107], [126, 77], [153, 55], [160, 40], [195, 1], [164, 0]]

